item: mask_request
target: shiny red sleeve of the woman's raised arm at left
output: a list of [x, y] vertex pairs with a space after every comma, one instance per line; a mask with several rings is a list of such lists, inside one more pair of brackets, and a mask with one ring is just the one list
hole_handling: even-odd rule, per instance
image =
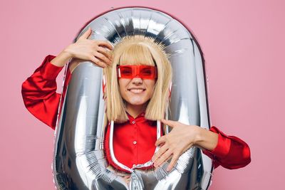
[[53, 58], [55, 56], [46, 56], [43, 63], [24, 81], [21, 93], [28, 111], [54, 130], [61, 97], [56, 93], [56, 77], [63, 67], [51, 64]]

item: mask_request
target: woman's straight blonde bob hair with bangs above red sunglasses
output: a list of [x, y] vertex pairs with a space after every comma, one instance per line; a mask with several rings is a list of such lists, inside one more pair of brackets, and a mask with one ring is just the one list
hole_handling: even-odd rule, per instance
[[153, 38], [135, 35], [125, 36], [113, 48], [113, 63], [103, 69], [105, 75], [105, 102], [108, 120], [114, 122], [128, 121], [125, 112], [125, 100], [120, 95], [117, 65], [155, 65], [157, 80], [155, 90], [145, 110], [147, 120], [161, 120], [169, 105], [172, 68], [169, 56], [162, 43]]

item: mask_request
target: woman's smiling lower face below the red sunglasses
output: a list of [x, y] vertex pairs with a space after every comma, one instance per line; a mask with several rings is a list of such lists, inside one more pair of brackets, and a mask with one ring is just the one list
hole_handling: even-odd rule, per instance
[[119, 88], [120, 95], [127, 102], [127, 108], [130, 105], [145, 106], [155, 90], [155, 80], [142, 79], [139, 76], [132, 79], [120, 78]]

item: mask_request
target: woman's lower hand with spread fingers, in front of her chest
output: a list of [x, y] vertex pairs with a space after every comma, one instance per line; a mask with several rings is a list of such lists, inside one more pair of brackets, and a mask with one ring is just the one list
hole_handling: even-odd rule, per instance
[[155, 163], [155, 167], [159, 167], [160, 164], [172, 158], [167, 167], [167, 171], [170, 171], [180, 155], [196, 144], [200, 127], [172, 120], [161, 120], [161, 122], [172, 127], [172, 130], [155, 142], [155, 146], [160, 145], [160, 149], [153, 155], [152, 162]]

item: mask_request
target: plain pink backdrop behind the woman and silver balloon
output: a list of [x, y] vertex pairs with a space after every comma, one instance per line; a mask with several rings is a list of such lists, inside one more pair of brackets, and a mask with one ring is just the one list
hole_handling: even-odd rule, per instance
[[[54, 189], [53, 130], [24, 107], [21, 83], [86, 21], [111, 7], [179, 18], [206, 60], [212, 125], [244, 139], [252, 163], [214, 170], [210, 189], [283, 189], [284, 1], [1, 1], [1, 189]], [[283, 74], [283, 75], [282, 75]], [[63, 72], [58, 77], [61, 91]]]

